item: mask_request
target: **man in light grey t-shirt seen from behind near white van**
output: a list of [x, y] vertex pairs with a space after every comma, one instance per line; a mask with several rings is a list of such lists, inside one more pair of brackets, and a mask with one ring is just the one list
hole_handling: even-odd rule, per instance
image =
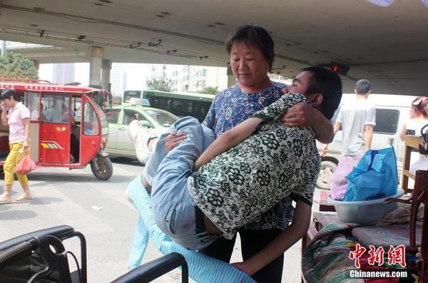
[[[335, 123], [335, 134], [342, 128], [343, 149], [345, 156], [355, 157], [370, 150], [372, 145], [373, 128], [376, 125], [376, 109], [367, 98], [371, 86], [367, 80], [357, 81], [355, 84], [355, 101], [340, 108]], [[327, 153], [328, 145], [321, 150], [321, 156]]]

